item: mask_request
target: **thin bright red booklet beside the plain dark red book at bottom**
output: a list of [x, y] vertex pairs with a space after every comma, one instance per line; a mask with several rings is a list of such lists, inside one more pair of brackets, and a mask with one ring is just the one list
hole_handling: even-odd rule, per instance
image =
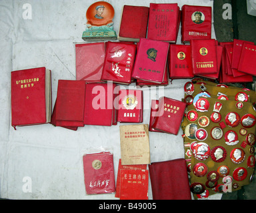
[[149, 170], [120, 170], [120, 200], [148, 200]]

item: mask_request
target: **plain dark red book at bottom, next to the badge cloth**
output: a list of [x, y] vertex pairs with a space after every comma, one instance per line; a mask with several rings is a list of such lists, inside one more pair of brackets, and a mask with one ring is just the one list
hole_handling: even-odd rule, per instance
[[153, 200], [191, 200], [184, 158], [149, 164]]

